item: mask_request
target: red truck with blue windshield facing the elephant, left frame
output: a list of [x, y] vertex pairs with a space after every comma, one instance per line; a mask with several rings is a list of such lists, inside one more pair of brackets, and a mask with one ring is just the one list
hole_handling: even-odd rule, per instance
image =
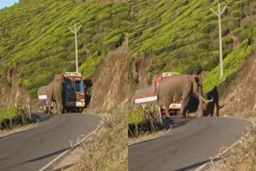
[[[80, 73], [66, 72], [64, 75], [63, 85], [63, 109], [65, 112], [82, 112], [85, 107], [86, 91], [83, 78]], [[46, 86], [38, 89], [38, 100], [44, 111], [48, 112], [48, 101], [46, 95]], [[50, 104], [52, 107], [54, 104]]]

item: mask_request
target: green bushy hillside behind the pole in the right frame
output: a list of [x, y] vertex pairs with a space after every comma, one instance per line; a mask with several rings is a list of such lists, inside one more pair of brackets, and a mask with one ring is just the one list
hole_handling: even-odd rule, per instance
[[[256, 36], [256, 2], [227, 0], [226, 4], [222, 14], [225, 78], [254, 52]], [[217, 10], [217, 0], [130, 0], [130, 82], [138, 57], [151, 60], [148, 82], [166, 71], [194, 74], [200, 70], [211, 71], [206, 92], [224, 82], [225, 78], [218, 80], [218, 18], [209, 5]]]

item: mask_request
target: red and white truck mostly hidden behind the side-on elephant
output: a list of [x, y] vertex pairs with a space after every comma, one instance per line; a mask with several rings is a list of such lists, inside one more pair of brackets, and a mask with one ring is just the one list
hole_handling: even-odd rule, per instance
[[[157, 89], [160, 82], [173, 76], [174, 74], [179, 74], [176, 72], [166, 72], [162, 74], [158, 74], [153, 78], [152, 85], [146, 89], [138, 89], [135, 93], [135, 104], [142, 104], [142, 105], [153, 105], [157, 103], [158, 96], [157, 96]], [[170, 115], [180, 114], [180, 109], [182, 108], [182, 99], [178, 103], [172, 103], [169, 106]], [[160, 111], [162, 117], [165, 117], [166, 112], [162, 106], [160, 106]]]

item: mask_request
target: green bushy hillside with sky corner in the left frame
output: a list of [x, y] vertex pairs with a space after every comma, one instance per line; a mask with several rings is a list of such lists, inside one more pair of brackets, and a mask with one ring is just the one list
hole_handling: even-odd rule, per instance
[[54, 74], [75, 71], [74, 22], [78, 33], [79, 71], [90, 78], [110, 50], [122, 45], [127, 3], [72, 0], [23, 0], [0, 10], [0, 83], [10, 68], [22, 66], [20, 85], [31, 97]]

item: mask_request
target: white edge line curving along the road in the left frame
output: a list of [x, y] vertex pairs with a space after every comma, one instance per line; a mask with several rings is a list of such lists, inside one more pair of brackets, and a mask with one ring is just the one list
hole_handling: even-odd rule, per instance
[[[93, 115], [96, 115], [96, 114], [93, 114]], [[102, 117], [101, 115], [96, 115], [96, 116], [99, 116], [99, 117]], [[83, 137], [81, 141], [78, 141], [74, 147], [76, 147], [77, 145], [79, 145], [82, 141], [85, 141], [87, 137], [90, 137], [90, 135], [92, 135], [93, 133], [96, 133], [96, 131], [98, 129], [100, 129], [103, 125], [105, 121], [105, 117], [102, 117], [102, 121], [100, 121], [100, 124], [97, 126], [96, 129], [94, 129], [92, 132], [90, 132], [88, 135], [86, 135], [86, 137]], [[41, 169], [39, 169], [38, 171], [43, 171], [45, 169], [47, 169], [48, 167], [50, 167], [50, 165], [53, 165], [55, 161], [58, 161], [58, 159], [60, 157], [62, 157], [64, 154], [66, 154], [70, 149], [72, 149], [72, 147], [70, 147], [69, 149], [66, 149], [66, 151], [62, 152], [61, 154], [58, 155], [58, 157], [55, 157], [52, 161], [50, 161], [47, 165], [43, 166]]]

